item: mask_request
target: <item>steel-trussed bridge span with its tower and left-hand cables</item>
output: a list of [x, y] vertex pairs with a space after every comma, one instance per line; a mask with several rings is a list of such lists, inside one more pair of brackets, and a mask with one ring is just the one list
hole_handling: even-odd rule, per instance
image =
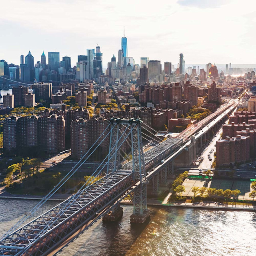
[[[134, 205], [131, 222], [144, 222], [149, 216], [146, 172], [154, 170], [163, 159], [182, 148], [183, 142], [182, 139], [168, 138], [143, 153], [141, 124], [140, 119], [111, 118], [100, 138], [56, 188], [0, 238], [0, 256], [46, 256], [59, 250], [109, 212], [127, 193], [132, 195]], [[38, 216], [43, 204], [79, 170], [105, 139], [110, 144], [108, 155], [92, 174], [89, 184], [85, 183], [76, 194]], [[132, 160], [123, 164], [121, 150], [128, 141]], [[96, 181], [97, 176], [100, 179]]]

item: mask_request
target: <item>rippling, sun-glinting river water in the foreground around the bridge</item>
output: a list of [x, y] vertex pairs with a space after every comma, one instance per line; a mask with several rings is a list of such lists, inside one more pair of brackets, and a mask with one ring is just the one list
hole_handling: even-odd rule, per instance
[[[0, 199], [0, 233], [37, 202]], [[56, 202], [49, 202], [46, 208]], [[132, 206], [122, 220], [99, 220], [61, 256], [255, 256], [256, 213], [150, 207], [150, 221], [131, 225]], [[45, 208], [45, 209], [46, 209]]]

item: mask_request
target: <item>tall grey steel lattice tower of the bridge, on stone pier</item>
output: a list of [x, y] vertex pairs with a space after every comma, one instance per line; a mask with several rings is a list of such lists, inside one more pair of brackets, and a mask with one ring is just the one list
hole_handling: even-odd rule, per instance
[[[132, 178], [138, 184], [137, 188], [131, 193], [133, 200], [133, 214], [131, 215], [131, 222], [143, 223], [149, 217], [147, 209], [147, 179], [146, 168], [143, 154], [142, 134], [141, 134], [141, 119], [131, 118], [130, 120], [122, 118], [112, 118], [110, 133], [110, 145], [108, 156], [107, 174], [115, 172], [121, 168], [121, 138], [125, 138], [129, 131], [131, 140], [131, 154], [132, 154]], [[126, 141], [123, 143], [127, 143]]]

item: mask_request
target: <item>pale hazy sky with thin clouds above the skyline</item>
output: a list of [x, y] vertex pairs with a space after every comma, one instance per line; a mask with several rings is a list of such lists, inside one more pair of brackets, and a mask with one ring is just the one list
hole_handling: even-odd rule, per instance
[[186, 64], [256, 64], [255, 0], [2, 0], [0, 59], [20, 64], [30, 50], [70, 56], [101, 47], [103, 66], [118, 55]]

